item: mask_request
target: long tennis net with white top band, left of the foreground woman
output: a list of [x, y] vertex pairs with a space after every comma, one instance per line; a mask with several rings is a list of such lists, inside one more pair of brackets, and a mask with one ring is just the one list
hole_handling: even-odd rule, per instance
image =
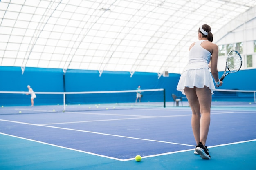
[[165, 107], [164, 89], [83, 91], [83, 92], [34, 92], [34, 107], [30, 95], [24, 91], [0, 91], [0, 114], [51, 113], [63, 111], [93, 111]]

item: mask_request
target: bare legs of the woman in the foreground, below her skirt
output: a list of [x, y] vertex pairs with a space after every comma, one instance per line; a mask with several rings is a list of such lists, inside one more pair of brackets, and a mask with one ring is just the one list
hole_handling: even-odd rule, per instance
[[205, 146], [210, 126], [211, 90], [204, 88], [185, 88], [184, 92], [192, 110], [191, 126], [196, 144]]

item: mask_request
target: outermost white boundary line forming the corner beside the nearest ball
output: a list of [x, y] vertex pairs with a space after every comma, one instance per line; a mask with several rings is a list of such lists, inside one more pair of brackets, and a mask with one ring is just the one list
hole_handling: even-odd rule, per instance
[[[0, 134], [11, 136], [11, 137], [16, 137], [16, 138], [19, 138], [19, 139], [25, 139], [25, 140], [28, 140], [28, 141], [34, 141], [34, 142], [37, 142], [37, 143], [40, 143], [40, 144], [46, 144], [46, 145], [50, 145], [50, 146], [55, 146], [55, 147], [58, 147], [58, 148], [74, 150], [74, 151], [77, 151], [77, 152], [82, 152], [82, 153], [86, 153], [86, 154], [90, 154], [90, 155], [96, 155], [96, 156], [100, 156], [100, 157], [104, 157], [104, 158], [114, 159], [114, 160], [117, 160], [117, 161], [131, 161], [131, 160], [134, 160], [134, 158], [119, 159], [119, 158], [115, 158], [115, 157], [109, 157], [109, 156], [105, 156], [105, 155], [95, 154], [95, 153], [92, 153], [92, 152], [86, 152], [86, 151], [83, 151], [83, 150], [77, 150], [77, 149], [67, 148], [67, 147], [64, 147], [64, 146], [58, 146], [58, 145], [54, 145], [54, 144], [49, 144], [49, 143], [42, 142], [42, 141], [36, 141], [36, 140], [33, 140], [33, 139], [27, 139], [27, 138], [24, 138], [24, 137], [18, 137], [18, 136], [14, 136], [14, 135], [9, 135], [9, 134], [5, 134], [5, 133], [2, 133], [2, 132], [0, 132]], [[228, 145], [234, 145], [234, 144], [243, 144], [243, 143], [252, 142], [252, 141], [256, 141], [256, 139], [248, 140], [248, 141], [233, 142], [233, 143], [229, 143], [229, 144], [221, 144], [221, 145], [209, 146], [209, 147], [207, 146], [207, 148], [216, 148], [216, 147], [220, 147], [220, 146], [228, 146]], [[188, 152], [188, 151], [192, 151], [192, 150], [195, 150], [195, 149], [180, 150], [180, 151], [175, 151], [175, 152], [166, 152], [166, 153], [162, 153], [162, 154], [148, 155], [148, 156], [144, 156], [144, 157], [141, 157], [141, 158], [150, 158], [150, 157], [157, 157], [157, 156], [162, 156], [162, 155], [171, 155], [171, 154], [175, 154], [175, 153]]]

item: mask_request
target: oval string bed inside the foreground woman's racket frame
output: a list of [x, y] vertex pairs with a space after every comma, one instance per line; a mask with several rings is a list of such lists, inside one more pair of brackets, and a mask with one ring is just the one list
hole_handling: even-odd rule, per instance
[[236, 72], [241, 68], [241, 58], [236, 52], [232, 52], [227, 57], [227, 68], [231, 72]]

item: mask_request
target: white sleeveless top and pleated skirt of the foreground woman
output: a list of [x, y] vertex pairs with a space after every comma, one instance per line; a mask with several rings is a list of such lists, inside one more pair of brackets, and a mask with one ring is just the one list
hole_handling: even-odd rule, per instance
[[203, 41], [207, 40], [195, 42], [195, 45], [189, 50], [189, 63], [184, 68], [177, 85], [177, 90], [181, 91], [184, 95], [185, 87], [203, 88], [207, 86], [211, 89], [211, 94], [215, 90], [213, 78], [208, 66], [211, 61], [211, 53], [201, 46]]

